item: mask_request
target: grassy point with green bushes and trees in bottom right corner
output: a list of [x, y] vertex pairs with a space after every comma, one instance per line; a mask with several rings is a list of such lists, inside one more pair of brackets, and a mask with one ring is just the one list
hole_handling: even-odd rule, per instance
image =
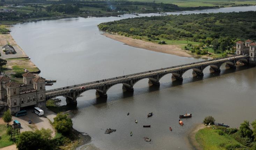
[[255, 122], [251, 123], [253, 130], [249, 121], [241, 123], [239, 129], [209, 126], [196, 133], [196, 141], [205, 150], [256, 150]]

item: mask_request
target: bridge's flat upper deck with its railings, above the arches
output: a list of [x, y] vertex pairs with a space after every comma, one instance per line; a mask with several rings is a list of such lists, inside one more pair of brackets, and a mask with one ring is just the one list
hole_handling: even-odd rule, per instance
[[[77, 90], [81, 90], [81, 87], [84, 87], [84, 89], [82, 89], [82, 90], [94, 89], [96, 87], [101, 87], [101, 86], [108, 85], [108, 84], [113, 84], [113, 83], [118, 84], [118, 83], [123, 83], [125, 81], [134, 80], [137, 78], [147, 78], [147, 77], [150, 77], [150, 76], [156, 75], [156, 74], [162, 74], [162, 73], [169, 74], [169, 73], [173, 73], [173, 72], [176, 72], [176, 71], [182, 70], [182, 69], [192, 69], [192, 68], [195, 68], [198, 66], [206, 66], [206, 65], [209, 66], [216, 62], [227, 62], [227, 61], [232, 61], [232, 60], [242, 59], [242, 58], [248, 58], [248, 56], [235, 55], [235, 56], [229, 57], [229, 58], [200, 61], [200, 62], [189, 63], [189, 64], [185, 64], [185, 65], [161, 68], [161, 69], [151, 70], [151, 71], [147, 71], [147, 72], [141, 72], [141, 73], [136, 73], [136, 74], [130, 74], [130, 75], [125, 75], [125, 76], [104, 79], [101, 81], [94, 81], [94, 82], [88, 82], [88, 83], [83, 83], [83, 84], [78, 84], [78, 85], [72, 85], [72, 86], [64, 87], [64, 88], [52, 89], [52, 90], [47, 90], [45, 92], [46, 92], [46, 97], [52, 96], [52, 95], [61, 95], [61, 93], [68, 93], [68, 92], [74, 92]], [[70, 91], [71, 89], [73, 91]]]

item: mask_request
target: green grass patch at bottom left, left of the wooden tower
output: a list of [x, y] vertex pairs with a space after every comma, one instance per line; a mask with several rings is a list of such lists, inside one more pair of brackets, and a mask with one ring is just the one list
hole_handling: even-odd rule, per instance
[[0, 148], [13, 145], [13, 141], [10, 141], [10, 136], [6, 134], [7, 125], [0, 125]]

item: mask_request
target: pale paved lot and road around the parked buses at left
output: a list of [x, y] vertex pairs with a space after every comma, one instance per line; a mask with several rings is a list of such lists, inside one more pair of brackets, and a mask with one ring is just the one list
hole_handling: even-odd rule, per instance
[[[52, 130], [52, 137], [55, 135], [55, 130], [52, 127], [50, 121], [53, 122], [53, 118], [56, 117], [56, 113], [48, 110], [47, 108], [43, 109], [44, 116], [39, 116], [35, 113], [33, 113], [34, 108], [27, 109], [27, 115], [21, 116], [21, 117], [12, 117], [13, 120], [18, 120], [21, 123], [21, 132], [24, 131], [33, 131], [36, 129], [51, 129]], [[31, 120], [31, 124], [28, 123], [28, 120]], [[11, 122], [12, 124], [13, 122]]]

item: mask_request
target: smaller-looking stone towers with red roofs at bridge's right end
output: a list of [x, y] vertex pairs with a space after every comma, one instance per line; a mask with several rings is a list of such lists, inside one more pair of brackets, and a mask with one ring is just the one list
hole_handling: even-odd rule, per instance
[[237, 55], [249, 55], [250, 61], [256, 61], [256, 43], [251, 40], [236, 42]]

